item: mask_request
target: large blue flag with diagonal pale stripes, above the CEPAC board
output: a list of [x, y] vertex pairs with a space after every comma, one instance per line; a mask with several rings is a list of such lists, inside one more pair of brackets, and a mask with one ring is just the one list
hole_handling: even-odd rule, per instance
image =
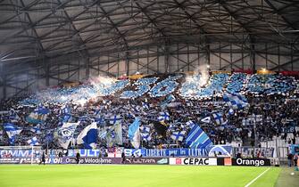
[[198, 125], [193, 126], [186, 139], [187, 146], [193, 149], [206, 149], [212, 145], [211, 139]]

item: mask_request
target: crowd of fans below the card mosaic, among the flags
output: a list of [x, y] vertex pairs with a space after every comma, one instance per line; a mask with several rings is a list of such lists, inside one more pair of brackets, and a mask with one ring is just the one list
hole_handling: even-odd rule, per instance
[[[226, 77], [227, 78], [227, 77]], [[221, 85], [222, 86], [222, 85]], [[231, 87], [231, 85], [229, 85]], [[228, 86], [228, 87], [229, 87]], [[179, 89], [179, 87], [177, 88]], [[150, 127], [151, 140], [142, 141], [145, 148], [162, 147], [184, 147], [184, 141], [178, 142], [170, 138], [172, 132], [190, 130], [187, 125], [188, 121], [199, 124], [203, 130], [212, 139], [214, 144], [226, 144], [230, 142], [239, 142], [240, 144], [249, 143], [249, 145], [257, 146], [262, 141], [270, 141], [274, 136], [281, 137], [286, 142], [295, 143], [295, 137], [299, 136], [299, 100], [298, 93], [288, 94], [247, 94], [246, 98], [249, 102], [248, 107], [244, 110], [235, 110], [234, 114], [228, 114], [228, 106], [222, 101], [222, 97], [215, 94], [208, 99], [187, 99], [179, 93], [171, 93], [175, 98], [165, 106], [162, 102], [168, 97], [150, 97], [143, 94], [136, 99], [120, 99], [115, 96], [104, 96], [91, 100], [85, 104], [74, 103], [43, 103], [44, 107], [50, 110], [49, 115], [44, 123], [38, 124], [41, 134], [31, 132], [29, 128], [36, 126], [29, 124], [26, 117], [34, 110], [32, 106], [20, 105], [21, 98], [13, 98], [9, 101], [1, 102], [1, 110], [13, 110], [18, 116], [13, 119], [13, 123], [22, 127], [23, 131], [17, 136], [15, 145], [26, 145], [32, 136], [37, 136], [41, 145], [48, 148], [58, 148], [56, 142], [57, 129], [62, 126], [60, 116], [62, 106], [71, 108], [71, 121], [81, 121], [76, 129], [74, 137], [87, 125], [96, 121], [98, 118], [104, 118], [98, 122], [99, 132], [103, 131], [106, 126], [112, 126], [108, 118], [118, 115], [121, 118], [123, 145], [131, 147], [128, 138], [129, 125], [134, 118], [141, 119], [141, 130], [143, 126]], [[145, 107], [146, 104], [146, 107]], [[37, 107], [37, 106], [35, 106]], [[165, 121], [160, 126], [167, 126], [166, 134], [159, 134], [156, 123], [159, 113], [168, 111], [170, 120]], [[212, 114], [215, 112], [223, 113], [225, 123], [216, 125]], [[211, 121], [203, 122], [202, 119], [210, 117]], [[7, 114], [0, 114], [0, 124], [11, 122]], [[9, 145], [7, 135], [1, 129], [2, 138], [0, 145]], [[158, 126], [159, 128], [159, 126]], [[287, 134], [292, 134], [291, 136]], [[256, 136], [256, 137], [255, 137]], [[292, 137], [289, 139], [289, 137]], [[256, 141], [257, 140], [257, 141]], [[298, 143], [298, 142], [296, 142]], [[80, 147], [75, 142], [71, 147]], [[105, 139], [99, 138], [99, 147], [106, 147]]]

